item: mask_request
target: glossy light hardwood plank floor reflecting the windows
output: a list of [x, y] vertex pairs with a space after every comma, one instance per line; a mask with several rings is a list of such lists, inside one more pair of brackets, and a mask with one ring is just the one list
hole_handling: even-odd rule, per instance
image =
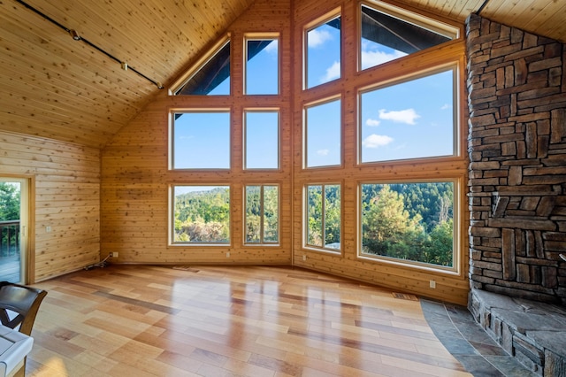
[[49, 294], [27, 375], [470, 376], [415, 296], [291, 267], [178, 267], [35, 284]]

